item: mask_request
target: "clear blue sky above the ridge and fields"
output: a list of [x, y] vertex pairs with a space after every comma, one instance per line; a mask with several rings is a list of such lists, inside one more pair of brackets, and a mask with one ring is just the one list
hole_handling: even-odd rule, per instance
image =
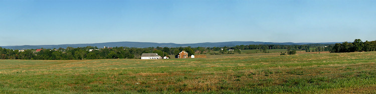
[[376, 40], [376, 0], [0, 0], [0, 46]]

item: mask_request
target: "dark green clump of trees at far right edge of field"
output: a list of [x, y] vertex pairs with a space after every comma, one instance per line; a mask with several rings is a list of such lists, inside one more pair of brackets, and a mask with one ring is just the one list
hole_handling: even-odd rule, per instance
[[330, 52], [355, 52], [355, 51], [376, 51], [376, 40], [362, 42], [361, 39], [355, 39], [354, 42], [347, 41], [335, 43]]

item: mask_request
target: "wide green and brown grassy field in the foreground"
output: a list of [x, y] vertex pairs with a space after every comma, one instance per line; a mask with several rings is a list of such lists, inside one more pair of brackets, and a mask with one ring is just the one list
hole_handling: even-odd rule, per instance
[[0, 60], [0, 93], [376, 93], [376, 52]]

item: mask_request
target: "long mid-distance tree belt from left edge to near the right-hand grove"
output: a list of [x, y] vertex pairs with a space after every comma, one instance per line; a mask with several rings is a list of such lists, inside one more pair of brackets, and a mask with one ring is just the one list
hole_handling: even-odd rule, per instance
[[[23, 51], [0, 47], [0, 59], [105, 59], [105, 58], [140, 58], [142, 53], [158, 53], [161, 56], [174, 57], [180, 51], [185, 50], [189, 55], [198, 53], [213, 53], [211, 50], [220, 50], [220, 53], [232, 53], [228, 49], [234, 49], [234, 52], [241, 53], [242, 49], [260, 49], [262, 52], [268, 52], [267, 49], [309, 49], [310, 47], [322, 47], [327, 44], [304, 44], [304, 45], [281, 45], [281, 44], [258, 44], [258, 45], [236, 45], [232, 47], [112, 47], [98, 48], [93, 46], [86, 47], [67, 47], [67, 48], [41, 48], [39, 52], [36, 49], [25, 49]], [[223, 50], [222, 50], [223, 49]], [[331, 49], [331, 48], [330, 48]], [[322, 49], [324, 50], [324, 49]], [[326, 49], [325, 49], [326, 50]]]

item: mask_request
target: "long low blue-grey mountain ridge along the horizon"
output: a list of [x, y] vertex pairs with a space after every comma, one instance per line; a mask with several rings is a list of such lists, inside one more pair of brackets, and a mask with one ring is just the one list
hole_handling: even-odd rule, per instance
[[[260, 41], [228, 41], [228, 42], [203, 42], [203, 43], [155, 43], [155, 42], [103, 42], [103, 43], [80, 43], [80, 44], [58, 44], [58, 45], [14, 45], [14, 46], [1, 46], [8, 49], [37, 49], [37, 48], [67, 48], [70, 47], [86, 47], [86, 46], [97, 46], [97, 47], [115, 47], [115, 46], [127, 46], [127, 47], [222, 47], [222, 46], [236, 46], [236, 45], [249, 45], [249, 44], [312, 44], [313, 42], [260, 42]], [[340, 42], [320, 42], [319, 44], [334, 44]]]

